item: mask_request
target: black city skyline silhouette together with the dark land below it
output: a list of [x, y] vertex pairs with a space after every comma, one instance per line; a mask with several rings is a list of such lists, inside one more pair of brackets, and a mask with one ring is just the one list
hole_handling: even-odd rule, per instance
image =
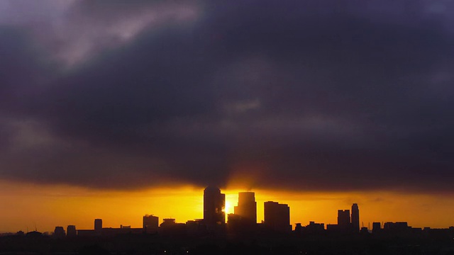
[[[202, 194], [201, 194], [202, 195]], [[240, 191], [233, 213], [226, 213], [226, 194], [215, 186], [203, 190], [202, 218], [177, 222], [172, 217], [145, 214], [142, 225], [112, 227], [95, 218], [91, 228], [55, 226], [53, 232], [0, 233], [0, 253], [60, 254], [371, 254], [454, 252], [454, 226], [413, 227], [406, 221], [370, 222], [360, 227], [362, 207], [337, 210], [337, 222], [290, 223], [292, 209], [267, 200], [257, 220], [254, 191]], [[179, 208], [172, 208], [179, 210]], [[321, 210], [324, 210], [322, 208]], [[50, 215], [52, 216], [52, 215]], [[227, 219], [226, 219], [227, 216]], [[161, 220], [162, 219], [162, 220]]]

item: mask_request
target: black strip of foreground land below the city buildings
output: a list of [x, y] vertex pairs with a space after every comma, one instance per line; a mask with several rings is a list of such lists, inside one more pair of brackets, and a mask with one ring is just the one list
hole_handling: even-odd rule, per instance
[[0, 237], [0, 254], [454, 254], [453, 237], [122, 234], [116, 237]]

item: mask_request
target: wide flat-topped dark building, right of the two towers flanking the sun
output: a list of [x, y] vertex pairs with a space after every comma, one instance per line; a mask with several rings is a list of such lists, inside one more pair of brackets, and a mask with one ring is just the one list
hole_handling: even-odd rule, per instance
[[264, 225], [268, 229], [277, 232], [290, 232], [290, 208], [289, 205], [279, 204], [277, 202], [267, 201], [264, 205], [265, 220]]

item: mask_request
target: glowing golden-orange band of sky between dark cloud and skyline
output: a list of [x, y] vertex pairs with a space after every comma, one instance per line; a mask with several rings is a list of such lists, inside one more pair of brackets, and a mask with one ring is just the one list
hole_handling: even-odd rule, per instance
[[[141, 227], [142, 217], [153, 214], [172, 217], [177, 222], [203, 217], [203, 188], [175, 186], [143, 191], [101, 191], [73, 186], [46, 186], [31, 183], [0, 182], [0, 232], [17, 232], [36, 226], [51, 232], [55, 226], [76, 225], [93, 229], [94, 219], [104, 227], [131, 225]], [[233, 212], [238, 192], [226, 193], [226, 212]], [[337, 210], [350, 209], [358, 203], [360, 222], [407, 221], [412, 227], [449, 227], [454, 225], [454, 198], [449, 194], [410, 194], [389, 191], [367, 192], [292, 192], [252, 190], [258, 204], [258, 222], [263, 220], [263, 203], [267, 200], [287, 203], [290, 221], [336, 224]]]

